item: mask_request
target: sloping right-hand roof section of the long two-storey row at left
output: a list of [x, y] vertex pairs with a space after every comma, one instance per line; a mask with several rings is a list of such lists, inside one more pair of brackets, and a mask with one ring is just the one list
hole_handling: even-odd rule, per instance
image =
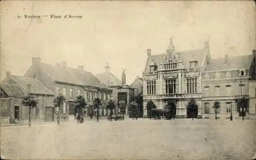
[[79, 71], [75, 68], [67, 68], [72, 74], [74, 74], [77, 79], [83, 83], [83, 85], [89, 85], [94, 87], [100, 87], [100, 88], [108, 88], [105, 84], [101, 83], [101, 81], [94, 76], [91, 72], [87, 71]]

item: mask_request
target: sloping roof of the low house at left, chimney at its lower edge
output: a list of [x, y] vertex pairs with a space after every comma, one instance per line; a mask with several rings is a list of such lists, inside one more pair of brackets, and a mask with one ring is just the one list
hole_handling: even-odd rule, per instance
[[16, 76], [11, 75], [11, 78], [26, 91], [27, 84], [31, 85], [31, 93], [32, 94], [46, 94], [46, 95], [54, 95], [54, 93], [45, 87], [42, 83], [40, 83], [36, 78], [30, 78], [26, 76]]

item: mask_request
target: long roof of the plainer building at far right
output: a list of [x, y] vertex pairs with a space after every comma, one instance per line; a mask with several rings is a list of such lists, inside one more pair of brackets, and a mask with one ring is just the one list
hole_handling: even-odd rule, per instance
[[229, 57], [227, 63], [225, 58], [211, 59], [206, 71], [250, 68], [252, 58], [252, 55]]

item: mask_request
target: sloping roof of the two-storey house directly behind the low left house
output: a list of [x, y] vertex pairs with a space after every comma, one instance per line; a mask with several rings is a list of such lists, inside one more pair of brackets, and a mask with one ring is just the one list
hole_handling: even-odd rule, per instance
[[44, 72], [48, 73], [54, 81], [83, 86], [83, 84], [74, 75], [63, 67], [52, 66], [46, 63], [40, 63], [39, 67]]

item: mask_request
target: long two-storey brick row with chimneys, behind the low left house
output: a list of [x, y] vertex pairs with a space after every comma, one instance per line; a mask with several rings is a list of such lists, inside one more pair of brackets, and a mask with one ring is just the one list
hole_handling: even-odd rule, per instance
[[88, 104], [91, 104], [94, 98], [100, 95], [103, 98], [104, 96], [108, 97], [108, 94], [111, 93], [111, 90], [101, 84], [92, 73], [84, 71], [83, 66], [78, 66], [77, 69], [70, 68], [67, 66], [67, 61], [53, 66], [42, 63], [40, 58], [32, 58], [32, 66], [24, 76], [35, 76], [55, 95], [62, 94], [66, 97], [67, 103], [63, 104], [62, 119], [68, 119], [70, 114], [74, 114], [76, 96], [85, 96]]

